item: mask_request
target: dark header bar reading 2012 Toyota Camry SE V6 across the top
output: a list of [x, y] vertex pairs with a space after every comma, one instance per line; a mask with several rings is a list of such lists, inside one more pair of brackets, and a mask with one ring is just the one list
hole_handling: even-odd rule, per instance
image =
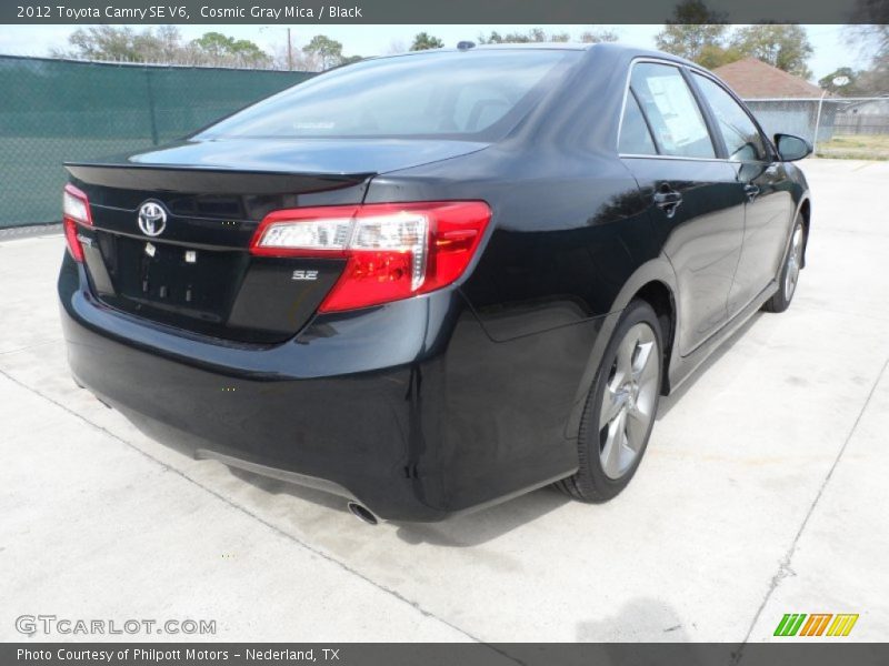
[[[0, 23], [637, 24], [676, 0], [3, 0]], [[728, 23], [886, 23], [889, 0], [707, 0]]]

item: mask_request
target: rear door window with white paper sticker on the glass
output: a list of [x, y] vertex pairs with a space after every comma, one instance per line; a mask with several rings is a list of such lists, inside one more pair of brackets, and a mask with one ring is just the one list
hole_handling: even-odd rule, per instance
[[701, 110], [678, 68], [639, 62], [632, 68], [630, 89], [651, 125], [661, 154], [716, 157]]

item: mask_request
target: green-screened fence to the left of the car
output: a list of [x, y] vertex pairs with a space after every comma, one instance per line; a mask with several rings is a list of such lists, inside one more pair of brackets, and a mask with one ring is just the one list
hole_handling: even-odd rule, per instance
[[179, 139], [311, 75], [0, 56], [0, 229], [59, 221], [63, 161]]

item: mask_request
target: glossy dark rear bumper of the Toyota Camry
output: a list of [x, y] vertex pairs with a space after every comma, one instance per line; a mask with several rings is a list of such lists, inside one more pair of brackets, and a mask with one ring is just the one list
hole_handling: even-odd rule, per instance
[[601, 321], [495, 343], [458, 292], [317, 317], [250, 346], [183, 336], [97, 301], [66, 258], [78, 382], [196, 457], [438, 521], [571, 474], [566, 423]]

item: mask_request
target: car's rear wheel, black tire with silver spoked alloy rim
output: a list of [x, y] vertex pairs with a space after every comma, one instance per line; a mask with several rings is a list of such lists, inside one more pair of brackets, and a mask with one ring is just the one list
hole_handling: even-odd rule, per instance
[[556, 485], [583, 502], [605, 502], [630, 483], [642, 460], [660, 397], [661, 330], [645, 301], [623, 312], [587, 397], [579, 468]]

